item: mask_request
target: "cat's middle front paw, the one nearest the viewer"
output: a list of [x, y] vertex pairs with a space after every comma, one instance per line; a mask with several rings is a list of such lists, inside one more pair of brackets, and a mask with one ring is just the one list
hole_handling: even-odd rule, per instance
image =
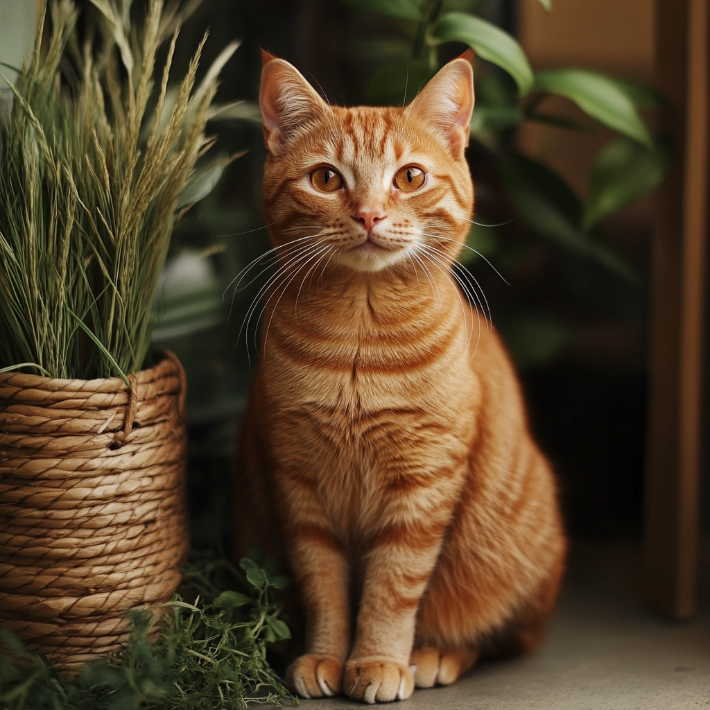
[[405, 665], [391, 660], [353, 658], [345, 664], [345, 692], [366, 703], [405, 700], [414, 690], [414, 677]]

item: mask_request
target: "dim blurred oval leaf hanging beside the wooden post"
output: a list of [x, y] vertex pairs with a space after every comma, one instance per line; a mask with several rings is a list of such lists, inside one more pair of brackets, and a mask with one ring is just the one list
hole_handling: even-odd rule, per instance
[[591, 168], [584, 229], [653, 190], [660, 185], [663, 173], [663, 160], [657, 152], [651, 153], [628, 138], [608, 143]]

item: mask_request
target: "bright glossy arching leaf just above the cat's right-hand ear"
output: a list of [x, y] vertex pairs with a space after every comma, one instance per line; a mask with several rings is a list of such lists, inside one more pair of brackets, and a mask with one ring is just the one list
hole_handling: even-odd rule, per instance
[[518, 84], [520, 96], [532, 89], [532, 69], [523, 48], [490, 22], [463, 12], [449, 12], [434, 26], [433, 38], [437, 44], [463, 42], [469, 45], [481, 59], [506, 70]]

